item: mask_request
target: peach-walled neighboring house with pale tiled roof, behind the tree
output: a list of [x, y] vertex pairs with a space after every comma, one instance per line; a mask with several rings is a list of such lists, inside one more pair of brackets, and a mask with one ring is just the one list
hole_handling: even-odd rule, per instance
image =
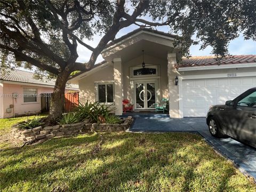
[[[53, 80], [35, 79], [28, 71], [0, 73], [0, 118], [40, 113], [41, 97], [52, 93], [54, 84]], [[68, 85], [68, 91], [78, 91], [78, 86]]]

